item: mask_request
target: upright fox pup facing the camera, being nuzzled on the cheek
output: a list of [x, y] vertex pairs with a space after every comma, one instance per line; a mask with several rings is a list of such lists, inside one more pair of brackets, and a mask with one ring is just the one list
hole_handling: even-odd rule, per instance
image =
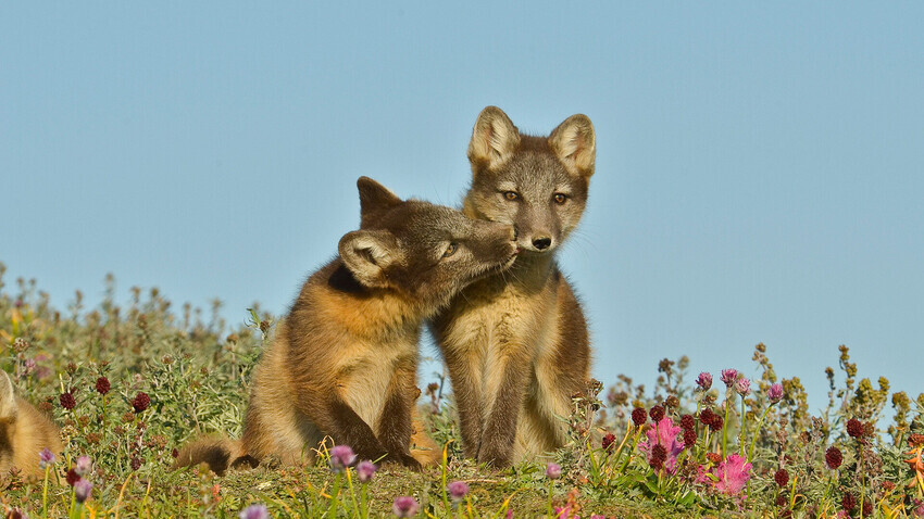
[[500, 109], [478, 115], [469, 145], [466, 216], [512, 224], [522, 250], [433, 321], [449, 369], [465, 454], [496, 467], [564, 444], [571, 397], [589, 378], [580, 306], [554, 251], [577, 226], [594, 174], [590, 119], [522, 135]]

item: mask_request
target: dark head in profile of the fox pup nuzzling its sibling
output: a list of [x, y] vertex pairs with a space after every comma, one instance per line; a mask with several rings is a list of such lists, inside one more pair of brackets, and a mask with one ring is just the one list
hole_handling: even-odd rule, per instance
[[434, 312], [472, 281], [509, 267], [513, 227], [402, 201], [367, 177], [357, 181], [362, 223], [340, 239], [347, 268], [369, 288], [398, 290]]

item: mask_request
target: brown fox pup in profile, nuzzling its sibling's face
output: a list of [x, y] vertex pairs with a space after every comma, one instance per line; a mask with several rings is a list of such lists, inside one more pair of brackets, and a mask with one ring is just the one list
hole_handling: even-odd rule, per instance
[[513, 263], [513, 228], [402, 201], [365, 177], [358, 186], [361, 228], [278, 324], [254, 371], [240, 444], [193, 444], [179, 465], [209, 461], [221, 473], [236, 457], [310, 461], [330, 436], [360, 458], [420, 468], [409, 444], [421, 324]]

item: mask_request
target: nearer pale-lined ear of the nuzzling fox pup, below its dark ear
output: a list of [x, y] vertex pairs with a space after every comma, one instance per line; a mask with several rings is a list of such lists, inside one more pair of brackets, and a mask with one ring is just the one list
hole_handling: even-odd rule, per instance
[[398, 240], [384, 230], [347, 232], [338, 250], [357, 281], [366, 287], [388, 287], [388, 267], [401, 262]]

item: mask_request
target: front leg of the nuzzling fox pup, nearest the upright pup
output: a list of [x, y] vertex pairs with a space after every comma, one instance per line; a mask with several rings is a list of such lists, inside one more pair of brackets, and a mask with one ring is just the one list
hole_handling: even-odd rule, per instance
[[414, 470], [421, 464], [411, 456], [410, 444], [413, 427], [411, 412], [417, 393], [417, 363], [414, 358], [399, 360], [399, 366], [388, 384], [385, 407], [378, 419], [378, 439], [388, 451], [386, 461], [396, 461]]

